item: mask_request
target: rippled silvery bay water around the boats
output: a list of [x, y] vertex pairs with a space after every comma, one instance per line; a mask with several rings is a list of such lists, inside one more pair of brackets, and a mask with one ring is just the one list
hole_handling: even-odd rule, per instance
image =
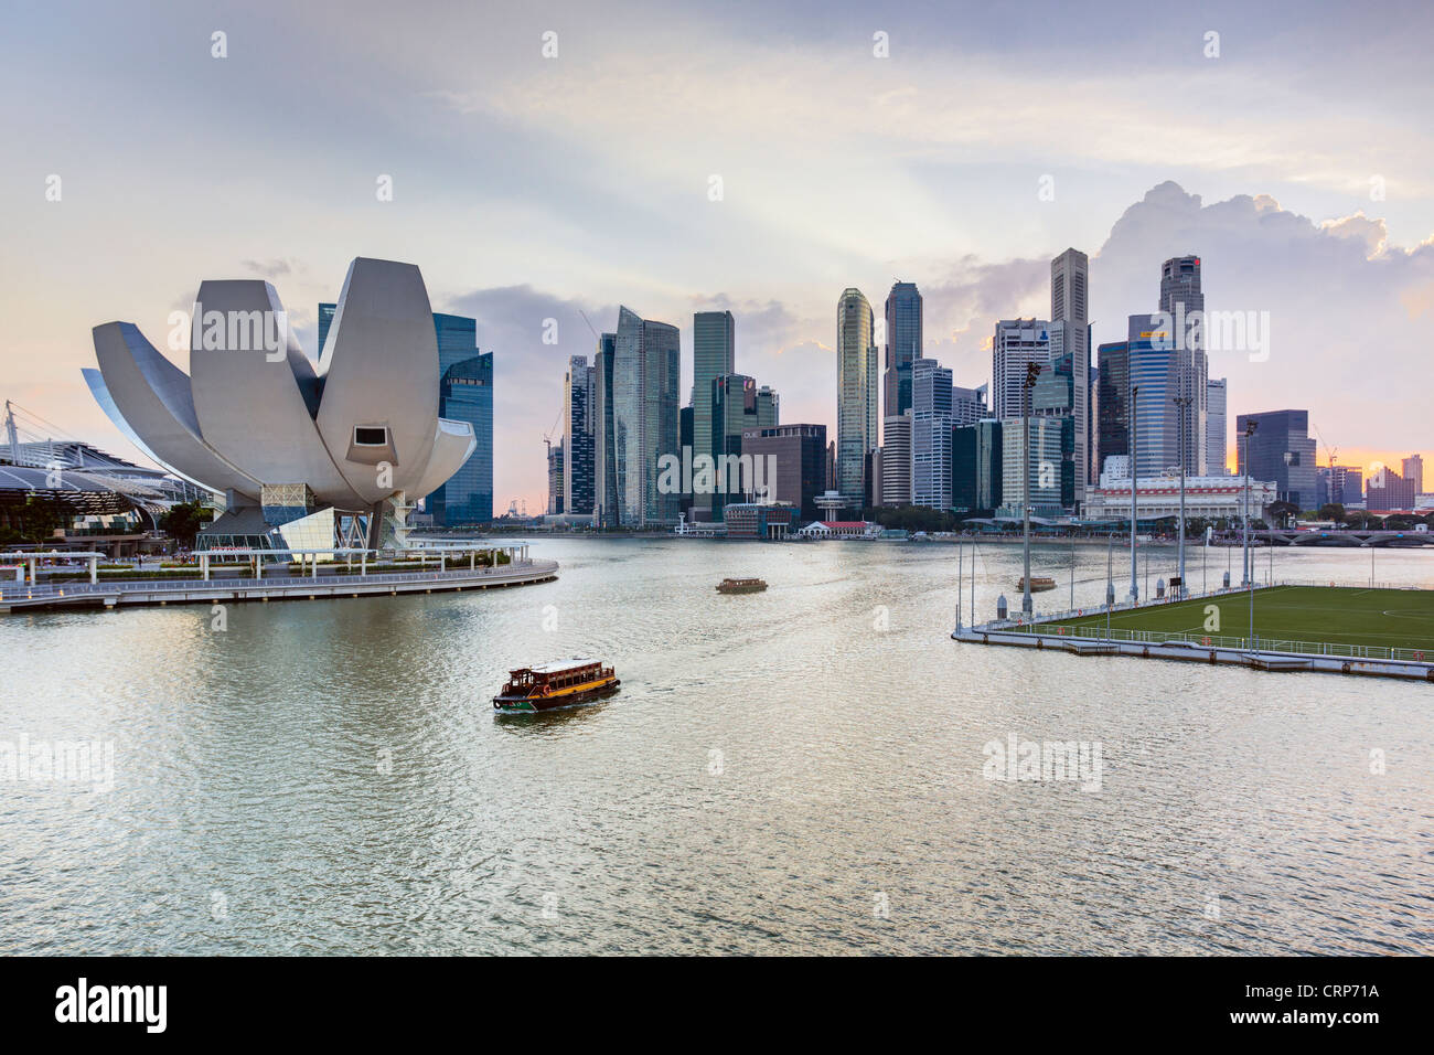
[[[0, 617], [0, 744], [115, 752], [106, 794], [0, 784], [0, 952], [1434, 952], [1434, 686], [956, 644], [949, 545], [535, 548], [558, 581], [222, 632]], [[1434, 551], [1375, 560], [1434, 586]], [[982, 617], [1018, 576], [982, 547]], [[578, 655], [622, 692], [493, 716], [509, 666]], [[1098, 742], [1101, 791], [984, 779], [1008, 735]]]

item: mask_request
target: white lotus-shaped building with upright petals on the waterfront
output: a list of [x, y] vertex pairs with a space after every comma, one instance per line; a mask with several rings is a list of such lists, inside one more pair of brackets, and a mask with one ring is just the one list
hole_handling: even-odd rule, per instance
[[370, 547], [402, 541], [412, 504], [476, 446], [472, 425], [439, 418], [433, 310], [413, 264], [348, 266], [317, 367], [267, 281], [205, 281], [192, 319], [188, 375], [132, 323], [105, 323], [85, 378], [155, 461], [227, 495], [219, 534], [267, 525], [300, 548], [291, 525], [305, 521], [308, 540], [347, 515]]

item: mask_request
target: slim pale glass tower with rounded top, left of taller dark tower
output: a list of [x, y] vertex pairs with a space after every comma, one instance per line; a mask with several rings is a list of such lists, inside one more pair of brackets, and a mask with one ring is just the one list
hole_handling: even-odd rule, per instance
[[843, 290], [836, 303], [836, 487], [852, 505], [866, 504], [868, 464], [878, 445], [872, 326], [872, 306], [862, 291]]

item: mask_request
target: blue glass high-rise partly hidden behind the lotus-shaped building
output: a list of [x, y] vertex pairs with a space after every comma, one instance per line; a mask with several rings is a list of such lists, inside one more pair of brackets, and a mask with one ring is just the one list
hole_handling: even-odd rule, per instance
[[[337, 310], [337, 304], [318, 306], [320, 355]], [[479, 350], [475, 319], [436, 311], [433, 333], [439, 344], [439, 416], [472, 425], [478, 446], [423, 505], [440, 527], [486, 524], [493, 518], [493, 353]]]

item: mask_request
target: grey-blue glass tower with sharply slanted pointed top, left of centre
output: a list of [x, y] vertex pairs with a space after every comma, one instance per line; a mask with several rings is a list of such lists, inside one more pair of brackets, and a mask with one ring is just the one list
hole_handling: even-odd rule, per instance
[[[597, 491], [611, 488], [614, 508], [604, 522], [619, 527], [675, 524], [681, 508], [678, 492], [658, 487], [658, 459], [681, 456], [678, 451], [678, 333], [675, 326], [644, 320], [628, 307], [618, 310], [618, 332], [612, 340], [611, 432], [607, 400], [602, 446], [611, 454], [598, 458]], [[599, 388], [607, 379], [599, 378]], [[611, 474], [611, 484], [605, 478]]]

